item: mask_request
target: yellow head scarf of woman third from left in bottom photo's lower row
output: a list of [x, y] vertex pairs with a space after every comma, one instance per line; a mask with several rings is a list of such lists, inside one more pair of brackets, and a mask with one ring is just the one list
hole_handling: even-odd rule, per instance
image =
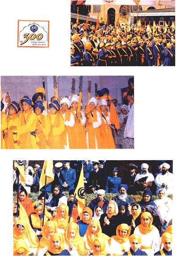
[[[71, 240], [69, 239], [68, 235], [70, 230], [75, 231], [75, 237]], [[88, 250], [85, 248], [85, 242], [83, 237], [80, 236], [78, 224], [68, 223], [64, 237], [67, 245], [71, 243], [73, 246], [75, 246], [79, 255], [87, 255]]]

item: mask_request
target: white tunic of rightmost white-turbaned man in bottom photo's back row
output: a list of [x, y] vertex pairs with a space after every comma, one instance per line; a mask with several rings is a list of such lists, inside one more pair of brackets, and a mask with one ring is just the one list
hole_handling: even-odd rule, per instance
[[158, 193], [160, 188], [162, 187], [163, 183], [167, 184], [167, 187], [165, 187], [167, 195], [172, 194], [172, 186], [173, 186], [173, 174], [169, 171], [166, 172], [166, 174], [162, 175], [162, 173], [159, 173], [155, 178], [155, 184], [157, 186], [156, 193]]

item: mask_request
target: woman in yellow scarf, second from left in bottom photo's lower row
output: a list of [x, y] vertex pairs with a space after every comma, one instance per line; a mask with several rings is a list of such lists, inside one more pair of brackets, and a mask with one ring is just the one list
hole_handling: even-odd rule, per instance
[[57, 226], [54, 221], [47, 221], [42, 228], [42, 238], [39, 242], [38, 256], [44, 255], [48, 250], [48, 243], [54, 233], [57, 233]]

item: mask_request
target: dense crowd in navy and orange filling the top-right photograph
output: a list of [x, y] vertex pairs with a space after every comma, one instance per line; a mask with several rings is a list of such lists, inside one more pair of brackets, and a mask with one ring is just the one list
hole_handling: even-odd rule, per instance
[[175, 26], [71, 22], [71, 66], [175, 66]]

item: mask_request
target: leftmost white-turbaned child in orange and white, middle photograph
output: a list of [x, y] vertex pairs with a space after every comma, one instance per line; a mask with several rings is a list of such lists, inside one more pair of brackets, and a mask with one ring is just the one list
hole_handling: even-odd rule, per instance
[[75, 149], [75, 138], [73, 136], [72, 128], [75, 124], [74, 115], [68, 108], [70, 107], [70, 102], [68, 98], [62, 98], [60, 101], [61, 105], [61, 115], [63, 116], [65, 131], [63, 132], [63, 144], [66, 149]]

